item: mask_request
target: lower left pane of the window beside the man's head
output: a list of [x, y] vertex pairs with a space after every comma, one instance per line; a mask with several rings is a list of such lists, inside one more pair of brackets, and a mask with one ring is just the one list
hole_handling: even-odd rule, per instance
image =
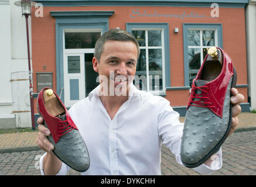
[[136, 65], [136, 75], [134, 85], [137, 89], [146, 91], [146, 50], [141, 49], [139, 60]]

